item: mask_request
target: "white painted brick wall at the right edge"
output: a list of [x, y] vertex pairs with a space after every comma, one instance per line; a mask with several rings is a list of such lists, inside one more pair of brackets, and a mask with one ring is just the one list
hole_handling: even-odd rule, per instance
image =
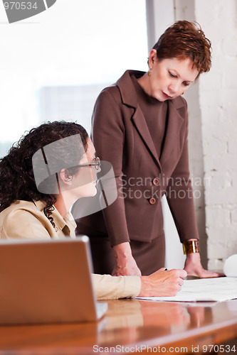
[[237, 1], [196, 0], [196, 21], [211, 39], [212, 68], [199, 80], [210, 269], [237, 253]]

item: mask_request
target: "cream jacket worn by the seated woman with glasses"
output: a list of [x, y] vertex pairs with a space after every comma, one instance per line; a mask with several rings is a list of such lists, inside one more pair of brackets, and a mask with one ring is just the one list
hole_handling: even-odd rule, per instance
[[[75, 238], [75, 221], [72, 214], [63, 217], [55, 208], [51, 214], [55, 228], [43, 212], [41, 201], [16, 201], [0, 213], [0, 239], [45, 239]], [[93, 274], [95, 293], [99, 300], [135, 297], [141, 289], [138, 276], [117, 276]]]

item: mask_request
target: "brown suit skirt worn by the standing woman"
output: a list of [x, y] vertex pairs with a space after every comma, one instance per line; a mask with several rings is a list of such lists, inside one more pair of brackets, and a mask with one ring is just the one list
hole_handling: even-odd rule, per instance
[[[112, 274], [115, 257], [107, 236], [89, 236], [95, 273]], [[130, 241], [132, 256], [137, 262], [142, 275], [150, 275], [159, 268], [164, 268], [164, 234], [150, 242]]]

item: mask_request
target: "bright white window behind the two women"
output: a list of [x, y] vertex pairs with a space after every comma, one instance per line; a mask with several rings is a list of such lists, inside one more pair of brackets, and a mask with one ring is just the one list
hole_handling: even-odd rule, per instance
[[127, 69], [147, 70], [145, 0], [57, 1], [1, 29], [1, 156], [43, 121], [90, 131], [100, 90]]

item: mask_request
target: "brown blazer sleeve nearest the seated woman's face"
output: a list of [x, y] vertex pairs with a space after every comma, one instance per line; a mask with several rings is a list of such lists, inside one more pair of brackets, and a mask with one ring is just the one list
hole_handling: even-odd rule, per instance
[[130, 241], [121, 184], [124, 136], [120, 93], [117, 87], [110, 87], [101, 92], [95, 103], [92, 138], [96, 154], [110, 162], [115, 172], [117, 200], [102, 211], [111, 246]]

